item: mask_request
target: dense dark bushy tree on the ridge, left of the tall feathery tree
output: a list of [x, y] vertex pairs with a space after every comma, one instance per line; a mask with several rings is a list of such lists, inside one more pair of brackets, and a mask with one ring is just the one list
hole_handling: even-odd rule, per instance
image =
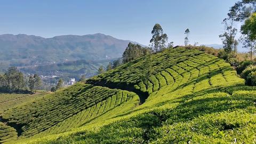
[[123, 63], [138, 59], [144, 55], [151, 53], [147, 47], [142, 47], [139, 44], [129, 43], [123, 53]]

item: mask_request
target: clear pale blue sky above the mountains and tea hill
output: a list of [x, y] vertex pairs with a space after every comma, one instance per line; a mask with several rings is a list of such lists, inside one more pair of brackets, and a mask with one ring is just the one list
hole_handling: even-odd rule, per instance
[[148, 45], [160, 23], [169, 41], [221, 44], [221, 22], [235, 0], [1, 1], [0, 34], [42, 37], [102, 33]]

